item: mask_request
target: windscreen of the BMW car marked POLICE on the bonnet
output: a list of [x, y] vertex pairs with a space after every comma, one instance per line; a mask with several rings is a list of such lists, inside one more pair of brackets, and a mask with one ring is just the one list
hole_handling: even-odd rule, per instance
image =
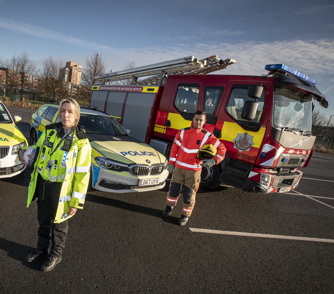
[[79, 125], [87, 134], [129, 136], [114, 119], [102, 115], [80, 114]]

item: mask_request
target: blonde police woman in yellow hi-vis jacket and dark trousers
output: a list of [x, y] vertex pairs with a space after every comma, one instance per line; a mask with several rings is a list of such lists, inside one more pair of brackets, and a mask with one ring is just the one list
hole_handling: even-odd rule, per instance
[[[60, 122], [45, 127], [36, 147], [35, 163], [28, 190], [29, 204], [37, 199], [39, 222], [37, 248], [26, 257], [27, 262], [48, 255], [41, 265], [43, 272], [61, 261], [67, 235], [67, 220], [83, 202], [88, 188], [91, 146], [78, 125], [80, 107], [72, 98], [59, 104]], [[19, 151], [24, 161], [24, 147]], [[51, 250], [49, 244], [51, 240]]]

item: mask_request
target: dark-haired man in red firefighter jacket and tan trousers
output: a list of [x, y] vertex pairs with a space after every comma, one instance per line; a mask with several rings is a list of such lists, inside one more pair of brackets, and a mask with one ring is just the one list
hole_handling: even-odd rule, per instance
[[[226, 148], [210, 132], [203, 129], [206, 121], [206, 113], [198, 110], [194, 114], [193, 126], [181, 129], [174, 140], [170, 152], [168, 171], [172, 173], [169, 191], [167, 193], [166, 209], [162, 217], [171, 215], [177, 203], [179, 194], [183, 194], [183, 209], [177, 223], [185, 225], [195, 205], [195, 196], [201, 180], [202, 167], [211, 167], [224, 159]], [[217, 149], [217, 154], [211, 159], [198, 159], [199, 149], [212, 144]], [[214, 155], [214, 154], [212, 154]]]

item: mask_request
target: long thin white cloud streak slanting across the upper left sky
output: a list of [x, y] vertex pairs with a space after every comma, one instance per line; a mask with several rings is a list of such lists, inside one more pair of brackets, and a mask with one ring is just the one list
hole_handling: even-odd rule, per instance
[[65, 35], [56, 31], [44, 29], [41, 27], [29, 25], [26, 23], [20, 23], [17, 21], [0, 18], [0, 28], [10, 30], [14, 33], [32, 35], [42, 39], [51, 39], [67, 44], [75, 44], [79, 47], [88, 47], [95, 50], [110, 50], [111, 48], [106, 45], [97, 44], [82, 39], [75, 38], [73, 36]]

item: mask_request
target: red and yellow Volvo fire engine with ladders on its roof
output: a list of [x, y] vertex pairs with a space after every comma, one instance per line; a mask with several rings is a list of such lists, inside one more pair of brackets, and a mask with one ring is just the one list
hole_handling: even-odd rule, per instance
[[[327, 108], [325, 95], [316, 80], [284, 64], [266, 65], [261, 76], [208, 74], [234, 63], [217, 55], [189, 56], [96, 76], [90, 105], [166, 157], [176, 133], [203, 110], [204, 129], [227, 151], [220, 164], [203, 168], [201, 188], [224, 183], [252, 192], [295, 189], [298, 167], [306, 167], [313, 154], [312, 101]], [[131, 85], [120, 85], [128, 79]]]

